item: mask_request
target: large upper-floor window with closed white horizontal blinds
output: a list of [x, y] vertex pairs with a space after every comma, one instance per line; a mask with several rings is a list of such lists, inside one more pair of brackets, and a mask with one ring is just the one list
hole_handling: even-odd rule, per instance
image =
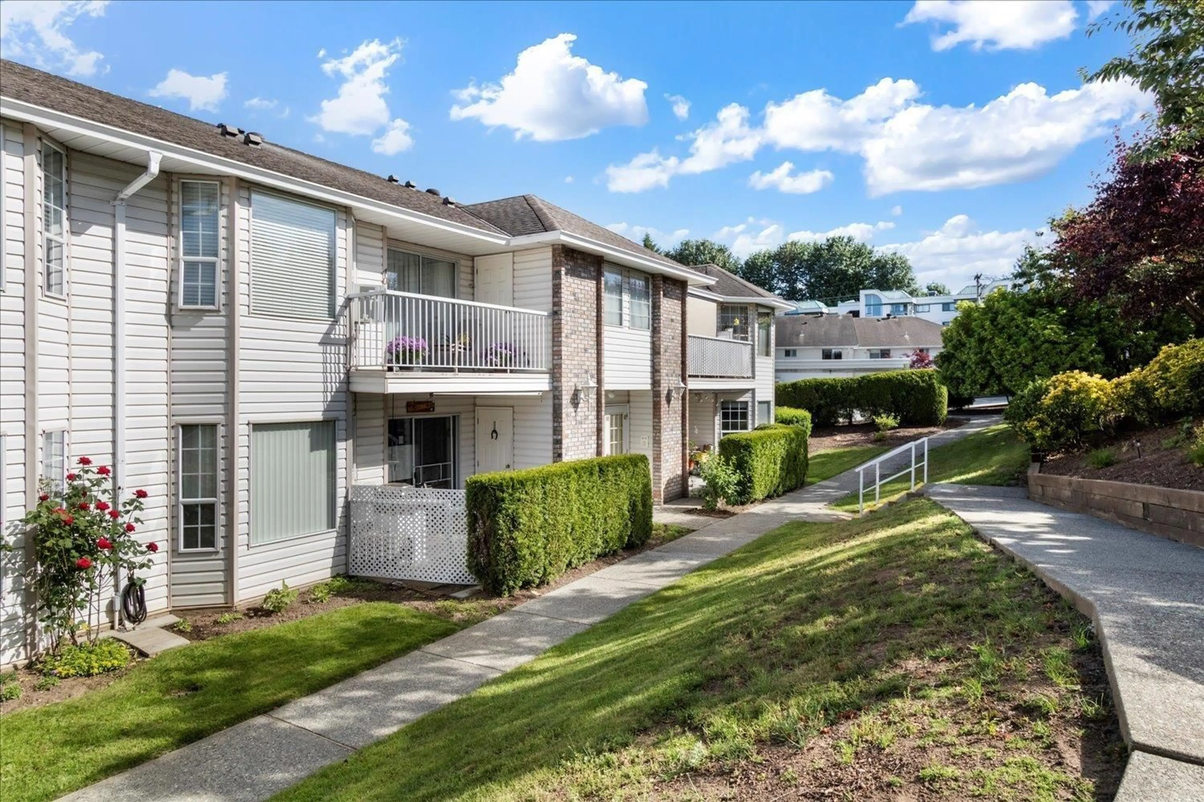
[[334, 209], [266, 192], [250, 208], [252, 314], [334, 317]]

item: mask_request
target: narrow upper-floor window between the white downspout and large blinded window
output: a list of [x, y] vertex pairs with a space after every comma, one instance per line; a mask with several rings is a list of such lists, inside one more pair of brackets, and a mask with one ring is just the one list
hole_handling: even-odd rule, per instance
[[214, 182], [179, 184], [179, 305], [189, 309], [217, 309], [218, 185]]

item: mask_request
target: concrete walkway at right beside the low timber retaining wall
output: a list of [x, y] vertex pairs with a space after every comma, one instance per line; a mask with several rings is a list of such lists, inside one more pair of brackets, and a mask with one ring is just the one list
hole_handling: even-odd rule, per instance
[[934, 485], [926, 494], [1093, 622], [1134, 749], [1117, 801], [1204, 800], [1204, 549], [1016, 488]]

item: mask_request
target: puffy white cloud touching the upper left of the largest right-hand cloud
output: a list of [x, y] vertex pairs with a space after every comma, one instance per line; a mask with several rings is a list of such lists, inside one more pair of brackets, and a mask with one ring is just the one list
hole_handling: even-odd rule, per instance
[[766, 138], [779, 149], [843, 150], [860, 143], [920, 96], [914, 81], [883, 78], [850, 100], [815, 89], [765, 107]]

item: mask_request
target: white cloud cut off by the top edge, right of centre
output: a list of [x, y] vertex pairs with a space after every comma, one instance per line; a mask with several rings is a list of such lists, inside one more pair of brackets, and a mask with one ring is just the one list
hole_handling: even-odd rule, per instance
[[1078, 19], [1070, 0], [919, 0], [902, 24], [948, 25], [932, 37], [934, 51], [963, 42], [975, 51], [1029, 51], [1068, 37]]

